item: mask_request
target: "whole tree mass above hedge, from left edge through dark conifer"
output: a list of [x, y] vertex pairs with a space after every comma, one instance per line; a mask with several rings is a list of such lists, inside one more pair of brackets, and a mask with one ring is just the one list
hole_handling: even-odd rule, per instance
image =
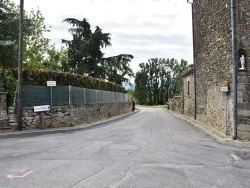
[[[17, 67], [19, 38], [19, 6], [11, 0], [0, 2], [0, 40], [11, 41], [12, 45], [0, 45], [0, 68]], [[91, 30], [86, 18], [63, 20], [70, 24], [72, 40], [62, 39], [66, 48], [56, 49], [41, 11], [32, 9], [24, 12], [23, 62], [24, 68], [65, 71], [92, 76], [122, 85], [133, 76], [131, 54], [104, 57], [102, 50], [111, 46], [111, 34], [104, 33], [99, 26]]]

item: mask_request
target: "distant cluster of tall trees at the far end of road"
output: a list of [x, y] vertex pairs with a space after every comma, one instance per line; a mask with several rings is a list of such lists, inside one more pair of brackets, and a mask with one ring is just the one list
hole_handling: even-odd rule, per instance
[[[147, 99], [149, 105], [165, 104], [170, 97], [180, 94], [182, 73], [189, 68], [186, 60], [151, 58], [147, 63], [141, 63], [141, 70], [136, 73], [135, 93], [139, 103], [145, 103], [139, 98]], [[145, 88], [147, 97], [145, 97]]]

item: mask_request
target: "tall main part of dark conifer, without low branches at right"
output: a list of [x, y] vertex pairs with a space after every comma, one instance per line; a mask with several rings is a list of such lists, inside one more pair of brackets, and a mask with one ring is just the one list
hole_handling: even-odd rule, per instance
[[70, 68], [79, 74], [103, 78], [104, 68], [100, 66], [103, 57], [101, 49], [111, 45], [110, 33], [103, 33], [98, 26], [92, 32], [86, 18], [82, 21], [67, 18], [63, 22], [73, 26], [69, 29], [73, 40], [62, 40], [68, 47]]

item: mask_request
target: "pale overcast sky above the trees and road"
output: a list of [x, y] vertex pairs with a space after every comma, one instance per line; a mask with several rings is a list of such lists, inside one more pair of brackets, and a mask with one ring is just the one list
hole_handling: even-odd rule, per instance
[[[20, 0], [14, 0], [19, 5]], [[24, 9], [40, 9], [51, 32], [46, 37], [60, 47], [71, 39], [65, 18], [88, 19], [92, 31], [99, 26], [111, 33], [105, 57], [132, 54], [131, 67], [150, 58], [185, 59], [192, 55], [191, 5], [186, 0], [24, 0]]]

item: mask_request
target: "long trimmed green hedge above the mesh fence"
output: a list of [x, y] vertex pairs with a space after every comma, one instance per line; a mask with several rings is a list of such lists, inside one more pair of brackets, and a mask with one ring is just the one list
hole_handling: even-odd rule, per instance
[[[9, 93], [8, 105], [12, 105], [18, 79], [18, 69], [4, 69], [2, 75], [5, 79], [6, 90]], [[124, 87], [101, 79], [68, 72], [23, 69], [23, 85], [46, 86], [49, 80], [56, 81], [57, 86], [75, 86], [125, 93]]]

